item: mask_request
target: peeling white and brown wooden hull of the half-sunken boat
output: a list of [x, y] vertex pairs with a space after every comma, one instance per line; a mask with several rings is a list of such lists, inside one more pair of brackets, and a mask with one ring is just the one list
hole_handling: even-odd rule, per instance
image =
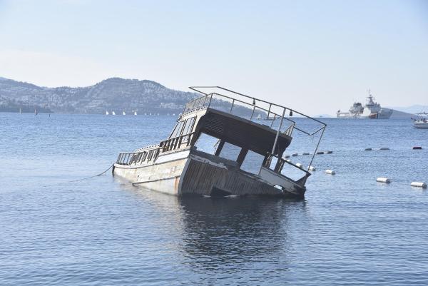
[[[171, 161], [171, 155], [177, 159]], [[267, 195], [303, 198], [305, 195], [305, 188], [291, 182], [288, 190], [275, 188], [263, 178], [240, 170], [233, 161], [197, 150], [163, 155], [158, 160], [160, 163], [137, 167], [115, 164], [113, 175], [129, 180], [138, 187], [178, 196]]]

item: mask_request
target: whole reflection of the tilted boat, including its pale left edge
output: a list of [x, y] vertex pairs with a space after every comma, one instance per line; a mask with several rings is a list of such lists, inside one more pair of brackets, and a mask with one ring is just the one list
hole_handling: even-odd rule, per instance
[[178, 251], [178, 260], [198, 263], [200, 270], [212, 268], [213, 260], [284, 259], [284, 251], [300, 244], [299, 225], [307, 220], [305, 200], [178, 198], [129, 184], [121, 188], [158, 225], [171, 226], [169, 237], [176, 241], [171, 250]]

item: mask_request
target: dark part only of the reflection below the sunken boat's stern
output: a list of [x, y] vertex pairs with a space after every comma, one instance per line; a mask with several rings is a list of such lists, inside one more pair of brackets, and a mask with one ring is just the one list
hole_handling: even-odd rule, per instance
[[[287, 216], [305, 215], [302, 200], [180, 198], [178, 203], [184, 214], [183, 250], [193, 255], [193, 260], [201, 256], [272, 259], [291, 245]], [[207, 270], [210, 266], [202, 265]]]

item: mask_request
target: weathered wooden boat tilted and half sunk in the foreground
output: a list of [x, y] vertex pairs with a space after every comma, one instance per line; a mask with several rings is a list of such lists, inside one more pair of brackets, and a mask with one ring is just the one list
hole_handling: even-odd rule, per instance
[[[132, 153], [120, 153], [113, 165], [113, 175], [135, 186], [170, 195], [303, 198], [314, 157], [304, 169], [282, 155], [295, 130], [307, 136], [321, 134], [315, 154], [325, 123], [226, 88], [191, 89], [203, 96], [185, 105], [169, 138]], [[213, 89], [215, 92], [209, 92]], [[297, 113], [316, 121], [320, 128], [307, 133], [285, 116], [288, 112], [290, 116]], [[273, 118], [270, 126], [256, 120], [260, 113]], [[301, 178], [290, 178], [286, 166], [299, 171]]]

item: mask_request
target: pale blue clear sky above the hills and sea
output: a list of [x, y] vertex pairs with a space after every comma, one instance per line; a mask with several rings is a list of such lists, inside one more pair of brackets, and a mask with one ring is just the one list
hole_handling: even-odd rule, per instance
[[369, 88], [428, 106], [428, 1], [0, 0], [0, 76], [223, 86], [310, 115]]

